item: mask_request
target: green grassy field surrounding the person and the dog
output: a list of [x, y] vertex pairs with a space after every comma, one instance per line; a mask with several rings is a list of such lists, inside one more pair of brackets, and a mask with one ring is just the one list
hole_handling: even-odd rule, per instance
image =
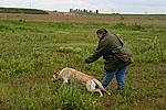
[[[166, 23], [162, 23], [165, 19], [128, 19], [123, 16], [114, 23], [0, 20], [0, 109], [166, 109]], [[60, 89], [61, 81], [53, 84], [52, 74], [66, 66], [102, 80], [102, 58], [84, 64], [97, 45], [95, 31], [102, 26], [118, 34], [134, 54], [124, 97], [118, 95], [115, 79], [107, 88], [112, 95], [103, 98], [74, 81]]]

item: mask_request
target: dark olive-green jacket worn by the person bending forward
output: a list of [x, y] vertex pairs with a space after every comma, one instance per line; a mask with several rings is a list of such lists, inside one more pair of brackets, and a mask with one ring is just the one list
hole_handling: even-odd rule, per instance
[[85, 63], [93, 63], [101, 56], [105, 59], [105, 70], [116, 70], [122, 66], [131, 64], [132, 53], [124, 47], [116, 35], [106, 34], [100, 40], [96, 51], [85, 59]]

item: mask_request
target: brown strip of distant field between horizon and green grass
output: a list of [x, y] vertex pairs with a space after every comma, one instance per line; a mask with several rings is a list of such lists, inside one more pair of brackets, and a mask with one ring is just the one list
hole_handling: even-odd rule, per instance
[[[166, 19], [145, 19], [143, 15], [112, 15], [112, 14], [79, 14], [69, 12], [52, 12], [49, 14], [24, 14], [24, 13], [0, 13], [0, 20], [25, 20], [25, 21], [44, 21], [44, 22], [83, 22], [83, 23], [124, 23], [127, 25], [139, 24], [139, 25], [159, 25], [165, 26]], [[122, 16], [124, 18], [122, 20]], [[157, 22], [157, 24], [156, 24]]]

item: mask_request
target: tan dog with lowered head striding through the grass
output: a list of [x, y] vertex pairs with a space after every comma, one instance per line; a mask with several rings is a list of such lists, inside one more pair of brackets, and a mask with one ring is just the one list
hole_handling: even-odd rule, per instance
[[103, 97], [102, 91], [105, 91], [107, 95], [110, 95], [110, 92], [104, 89], [102, 84], [97, 79], [95, 79], [93, 76], [89, 76], [73, 68], [65, 67], [60, 73], [54, 72], [53, 81], [60, 78], [63, 79], [62, 86], [64, 84], [68, 84], [70, 79], [75, 79], [84, 84], [89, 91], [100, 92], [101, 97]]

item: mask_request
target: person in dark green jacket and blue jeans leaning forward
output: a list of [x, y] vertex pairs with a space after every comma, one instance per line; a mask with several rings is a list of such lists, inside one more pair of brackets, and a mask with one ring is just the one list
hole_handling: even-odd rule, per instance
[[96, 35], [98, 38], [97, 48], [85, 59], [85, 63], [93, 63], [103, 56], [106, 72], [102, 81], [103, 87], [106, 88], [113, 77], [116, 76], [117, 90], [124, 92], [125, 73], [132, 63], [132, 52], [124, 46], [117, 35], [110, 34], [104, 28], [98, 29]]

